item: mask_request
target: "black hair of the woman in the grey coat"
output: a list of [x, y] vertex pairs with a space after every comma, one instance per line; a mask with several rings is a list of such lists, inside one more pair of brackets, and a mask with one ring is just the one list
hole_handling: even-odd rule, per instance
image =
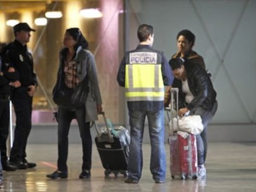
[[75, 44], [75, 50], [77, 50], [79, 46], [82, 46], [83, 49], [88, 48], [88, 41], [85, 39], [79, 28], [68, 28], [66, 33], [68, 33], [75, 41], [77, 41]]

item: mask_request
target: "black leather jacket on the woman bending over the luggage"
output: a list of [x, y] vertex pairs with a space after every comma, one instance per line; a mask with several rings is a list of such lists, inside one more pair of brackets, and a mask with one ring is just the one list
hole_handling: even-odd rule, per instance
[[187, 72], [187, 84], [194, 99], [189, 104], [185, 102], [186, 95], [182, 91], [182, 81], [175, 79], [173, 87], [179, 88], [179, 109], [187, 107], [187, 109], [193, 111], [197, 107], [203, 107], [203, 109], [211, 111], [213, 104], [216, 102], [216, 91], [209, 75], [195, 64], [185, 63], [184, 67]]

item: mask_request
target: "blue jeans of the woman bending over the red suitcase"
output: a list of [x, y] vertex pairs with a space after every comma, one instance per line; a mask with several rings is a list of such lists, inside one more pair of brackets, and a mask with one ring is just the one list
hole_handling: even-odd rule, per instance
[[189, 115], [200, 115], [203, 123], [202, 133], [196, 135], [197, 137], [197, 159], [198, 165], [205, 164], [207, 157], [208, 141], [207, 141], [207, 127], [208, 123], [213, 119], [218, 108], [218, 102], [216, 101], [211, 111], [206, 111], [202, 107], [198, 107], [195, 111], [190, 112]]

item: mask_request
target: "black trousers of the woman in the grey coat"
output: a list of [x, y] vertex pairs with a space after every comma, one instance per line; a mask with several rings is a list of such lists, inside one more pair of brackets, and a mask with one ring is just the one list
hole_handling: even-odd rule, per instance
[[79, 125], [80, 138], [82, 139], [83, 164], [82, 170], [90, 170], [92, 167], [92, 136], [90, 122], [85, 122], [85, 107], [69, 111], [59, 107], [58, 111], [58, 170], [67, 172], [67, 155], [69, 148], [69, 128], [72, 119], [76, 119]]

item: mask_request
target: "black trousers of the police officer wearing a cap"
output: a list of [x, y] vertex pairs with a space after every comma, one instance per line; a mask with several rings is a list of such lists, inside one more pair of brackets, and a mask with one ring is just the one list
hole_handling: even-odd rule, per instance
[[27, 88], [17, 88], [13, 94], [12, 103], [16, 115], [14, 143], [11, 149], [10, 161], [19, 162], [25, 159], [28, 135], [32, 128], [32, 101]]

